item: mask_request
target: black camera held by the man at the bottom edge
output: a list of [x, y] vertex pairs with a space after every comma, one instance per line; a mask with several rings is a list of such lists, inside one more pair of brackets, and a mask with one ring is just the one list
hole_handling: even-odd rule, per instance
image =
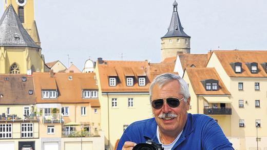
[[132, 150], [164, 150], [164, 148], [153, 140], [147, 140], [145, 143], [137, 144]]

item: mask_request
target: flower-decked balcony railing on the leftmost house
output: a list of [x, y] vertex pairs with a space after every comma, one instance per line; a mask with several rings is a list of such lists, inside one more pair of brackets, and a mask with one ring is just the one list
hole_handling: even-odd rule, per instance
[[30, 114], [30, 115], [24, 115], [23, 117], [18, 117], [15, 114], [6, 115], [5, 113], [0, 115], [0, 121], [25, 121], [25, 120], [39, 121], [39, 116], [35, 114]]

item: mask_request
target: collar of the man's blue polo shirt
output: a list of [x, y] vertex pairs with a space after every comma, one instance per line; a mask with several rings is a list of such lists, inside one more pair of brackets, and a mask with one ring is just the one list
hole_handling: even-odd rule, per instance
[[[194, 124], [193, 116], [192, 114], [188, 113], [187, 120], [186, 120], [183, 133], [182, 133], [183, 136], [187, 136], [193, 132], [194, 130], [193, 124]], [[149, 119], [146, 122], [145, 130], [144, 130], [144, 137], [146, 140], [151, 139], [151, 140], [154, 140], [155, 142], [159, 142], [157, 138], [157, 122], [155, 118]]]

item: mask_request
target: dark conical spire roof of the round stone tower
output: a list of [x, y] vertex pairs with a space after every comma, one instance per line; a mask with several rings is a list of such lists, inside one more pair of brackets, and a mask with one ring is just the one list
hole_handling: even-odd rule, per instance
[[180, 22], [180, 18], [177, 12], [177, 2], [175, 1], [174, 4], [174, 12], [173, 16], [171, 17], [170, 25], [168, 28], [168, 32], [161, 38], [167, 37], [190, 37], [183, 31], [183, 27]]

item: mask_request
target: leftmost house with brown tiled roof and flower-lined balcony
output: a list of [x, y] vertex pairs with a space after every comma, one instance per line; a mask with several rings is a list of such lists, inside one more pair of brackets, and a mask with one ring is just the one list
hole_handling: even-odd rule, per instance
[[0, 101], [1, 149], [41, 149], [33, 78], [26, 74], [0, 75]]

